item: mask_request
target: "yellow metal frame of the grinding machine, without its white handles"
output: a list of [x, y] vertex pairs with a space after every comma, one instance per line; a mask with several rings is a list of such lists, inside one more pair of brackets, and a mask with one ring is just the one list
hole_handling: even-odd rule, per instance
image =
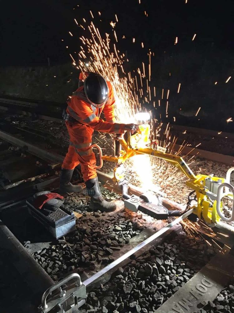
[[[216, 200], [214, 200], [213, 203], [211, 201], [212, 196], [215, 196], [215, 194], [210, 192], [205, 186], [205, 179], [209, 177], [212, 181], [222, 180], [222, 182], [225, 182], [225, 179], [201, 174], [196, 176], [182, 157], [168, 154], [162, 151], [157, 151], [152, 147], [149, 147], [149, 130], [149, 125], [144, 124], [139, 126], [139, 133], [136, 133], [135, 135], [131, 136], [130, 131], [128, 131], [127, 142], [124, 140], [123, 136], [119, 139], [123, 149], [120, 156], [114, 157], [104, 155], [102, 156], [102, 159], [105, 161], [115, 162], [120, 165], [132, 156], [146, 154], [169, 162], [170, 164], [176, 166], [181, 172], [183, 172], [184, 175], [188, 177], [186, 185], [196, 191], [197, 206], [193, 206], [193, 212], [197, 214], [198, 218], [203, 218], [208, 224], [219, 222], [220, 217], [216, 210]], [[115, 168], [113, 179], [115, 181], [119, 181], [121, 178], [124, 177], [117, 175], [117, 168]], [[226, 195], [230, 194], [224, 194], [224, 196]]]

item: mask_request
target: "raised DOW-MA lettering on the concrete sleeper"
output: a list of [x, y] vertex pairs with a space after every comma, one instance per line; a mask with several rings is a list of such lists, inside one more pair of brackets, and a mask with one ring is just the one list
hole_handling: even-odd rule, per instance
[[200, 283], [198, 283], [194, 288], [189, 290], [189, 294], [186, 297], [177, 300], [173, 303], [167, 313], [185, 313], [192, 312], [192, 308], [197, 306], [197, 303], [201, 302], [201, 298], [206, 294], [209, 288], [213, 286], [213, 283], [207, 278], [202, 278]]

